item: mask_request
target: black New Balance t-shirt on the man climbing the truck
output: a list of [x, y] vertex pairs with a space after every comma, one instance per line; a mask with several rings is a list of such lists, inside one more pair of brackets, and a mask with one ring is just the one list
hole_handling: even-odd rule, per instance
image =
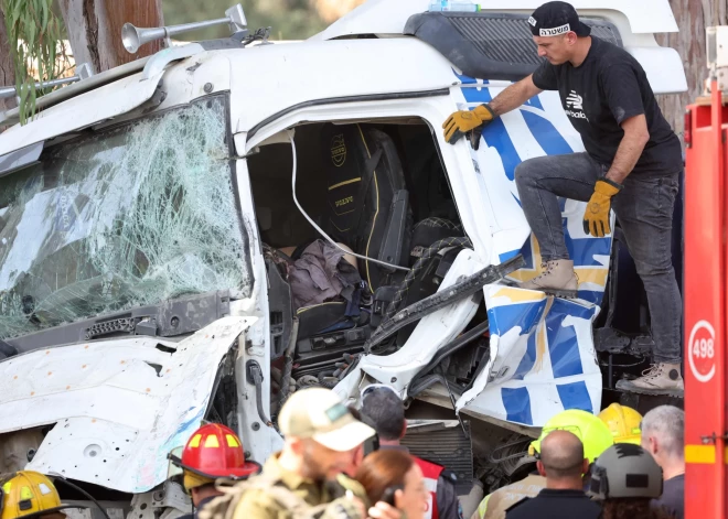
[[670, 175], [683, 169], [677, 136], [665, 120], [640, 63], [623, 48], [591, 36], [581, 65], [544, 62], [533, 75], [542, 90], [558, 90], [561, 105], [593, 160], [611, 165], [630, 117], [645, 116], [650, 141], [633, 172]]

